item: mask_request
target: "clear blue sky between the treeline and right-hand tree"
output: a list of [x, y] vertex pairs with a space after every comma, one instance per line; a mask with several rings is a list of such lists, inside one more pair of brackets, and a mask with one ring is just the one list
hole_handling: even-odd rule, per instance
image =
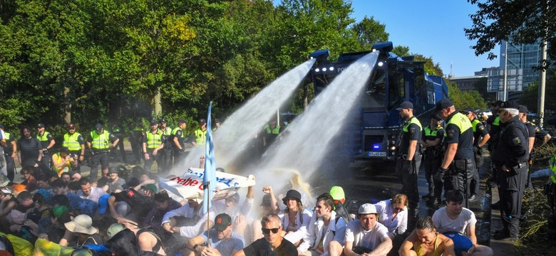
[[[353, 0], [351, 7], [356, 21], [374, 16], [386, 25], [394, 46], [408, 46], [410, 53], [432, 57], [444, 75], [474, 75], [481, 68], [499, 65], [498, 58], [475, 56], [470, 48], [475, 42], [465, 37], [463, 28], [471, 28], [469, 14], [478, 8], [466, 0]], [[500, 46], [493, 52], [500, 56]]]

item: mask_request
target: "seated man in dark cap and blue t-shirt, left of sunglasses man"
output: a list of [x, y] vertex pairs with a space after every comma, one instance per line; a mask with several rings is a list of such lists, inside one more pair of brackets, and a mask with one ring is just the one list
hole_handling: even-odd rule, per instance
[[241, 235], [232, 231], [232, 218], [226, 213], [216, 215], [215, 225], [210, 231], [187, 240], [187, 249], [192, 255], [222, 255], [230, 256], [242, 250], [244, 240]]

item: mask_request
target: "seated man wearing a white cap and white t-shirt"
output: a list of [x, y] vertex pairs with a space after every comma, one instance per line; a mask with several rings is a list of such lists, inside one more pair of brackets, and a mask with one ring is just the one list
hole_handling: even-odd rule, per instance
[[344, 248], [336, 241], [330, 242], [330, 251], [334, 255], [387, 255], [392, 249], [392, 240], [388, 228], [377, 220], [379, 213], [371, 203], [359, 207], [357, 220], [351, 220], [346, 228]]

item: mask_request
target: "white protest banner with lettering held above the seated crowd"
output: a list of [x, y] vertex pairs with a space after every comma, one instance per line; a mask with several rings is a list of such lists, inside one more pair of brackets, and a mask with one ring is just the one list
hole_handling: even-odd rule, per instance
[[[159, 178], [160, 188], [175, 193], [185, 199], [200, 198], [202, 199], [202, 176], [204, 175], [203, 169], [190, 168], [185, 173], [174, 178], [165, 179]], [[248, 177], [239, 176], [235, 174], [216, 172], [216, 186], [210, 184], [210, 189], [215, 191], [212, 200], [220, 200], [232, 196], [240, 188], [254, 186], [254, 176]]]

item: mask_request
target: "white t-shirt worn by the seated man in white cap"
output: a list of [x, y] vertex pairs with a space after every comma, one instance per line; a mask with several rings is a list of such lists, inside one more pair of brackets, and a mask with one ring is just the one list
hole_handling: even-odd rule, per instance
[[364, 230], [359, 220], [351, 220], [346, 228], [346, 242], [353, 242], [353, 246], [363, 246], [374, 250], [388, 238], [388, 228], [379, 223], [370, 230]]

